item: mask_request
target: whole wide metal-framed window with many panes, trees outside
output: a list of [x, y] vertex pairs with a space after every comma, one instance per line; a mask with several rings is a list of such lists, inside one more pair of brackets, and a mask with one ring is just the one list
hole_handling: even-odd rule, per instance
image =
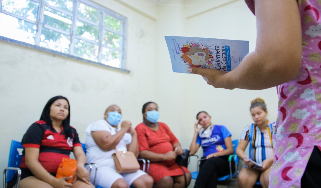
[[126, 18], [88, 0], [0, 0], [0, 35], [125, 68]]

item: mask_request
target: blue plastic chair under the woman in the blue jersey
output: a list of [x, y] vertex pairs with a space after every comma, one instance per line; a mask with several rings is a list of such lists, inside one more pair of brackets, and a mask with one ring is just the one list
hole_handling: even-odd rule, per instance
[[[234, 154], [229, 156], [229, 163], [230, 163], [230, 174], [226, 176], [221, 176], [218, 178], [218, 181], [224, 181], [232, 178], [236, 178], [239, 174], [239, 157], [236, 155], [236, 147], [239, 145], [239, 140], [233, 140], [232, 141], [233, 149], [234, 149]], [[235, 162], [235, 173], [232, 172], [232, 159]], [[197, 161], [198, 163], [198, 161]], [[197, 169], [199, 165], [197, 164]], [[196, 179], [198, 176], [198, 170], [195, 172], [191, 172], [192, 179]]]

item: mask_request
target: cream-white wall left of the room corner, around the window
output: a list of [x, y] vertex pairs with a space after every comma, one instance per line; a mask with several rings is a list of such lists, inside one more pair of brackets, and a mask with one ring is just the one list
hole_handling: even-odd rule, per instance
[[[130, 73], [0, 42], [0, 169], [7, 166], [12, 139], [21, 141], [39, 120], [49, 98], [70, 100], [71, 125], [84, 142], [84, 129], [101, 119], [107, 106], [122, 108], [133, 126], [142, 121], [143, 103], [155, 99], [156, 22], [114, 1], [99, 1], [128, 18], [126, 69]], [[2, 178], [0, 178], [2, 184]]]

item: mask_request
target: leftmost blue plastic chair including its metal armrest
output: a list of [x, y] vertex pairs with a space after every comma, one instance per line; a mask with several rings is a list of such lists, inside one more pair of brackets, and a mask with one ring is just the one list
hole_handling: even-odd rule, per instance
[[23, 147], [20, 142], [15, 140], [11, 141], [8, 167], [4, 168], [4, 171], [3, 171], [4, 188], [8, 186], [8, 182], [10, 182], [13, 179], [13, 176], [16, 172], [18, 172], [17, 187], [19, 186], [20, 177], [21, 177], [21, 169], [19, 168], [19, 166], [22, 158], [22, 150], [23, 150]]

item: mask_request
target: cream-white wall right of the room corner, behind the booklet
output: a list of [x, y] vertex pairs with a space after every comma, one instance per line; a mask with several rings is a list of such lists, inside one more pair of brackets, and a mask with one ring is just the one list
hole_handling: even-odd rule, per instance
[[225, 125], [232, 133], [232, 140], [239, 139], [244, 127], [252, 123], [249, 106], [256, 97], [265, 99], [271, 121], [275, 121], [277, 116], [275, 88], [257, 91], [218, 89], [208, 85], [200, 75], [171, 71], [164, 35], [247, 40], [250, 41], [250, 51], [255, 49], [255, 16], [244, 1], [233, 1], [219, 8], [215, 7], [228, 1], [213, 1], [207, 5], [202, 2], [209, 3], [190, 0], [185, 2], [186, 6], [173, 6], [179, 1], [170, 1], [160, 6], [156, 29], [159, 43], [156, 55], [165, 54], [156, 60], [156, 85], [163, 90], [156, 94], [161, 120], [169, 125], [184, 148], [189, 148], [195, 116], [199, 111], [212, 115], [212, 123]]

